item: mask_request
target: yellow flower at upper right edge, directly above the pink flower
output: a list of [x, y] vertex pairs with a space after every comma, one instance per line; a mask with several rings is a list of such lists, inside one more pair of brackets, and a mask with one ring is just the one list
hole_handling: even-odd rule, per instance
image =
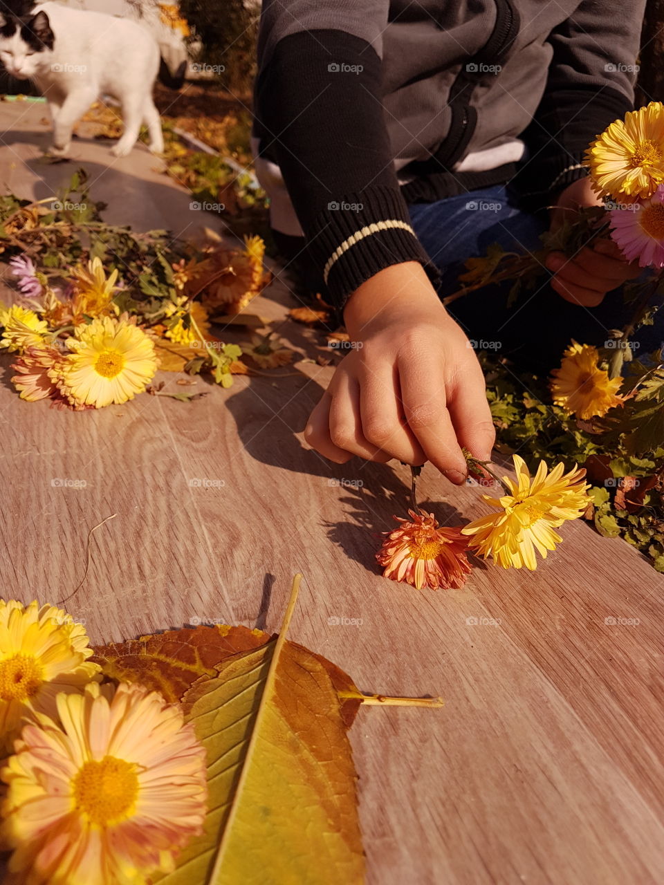
[[624, 196], [647, 197], [664, 181], [664, 104], [626, 114], [615, 120], [586, 151], [595, 189], [624, 201]]

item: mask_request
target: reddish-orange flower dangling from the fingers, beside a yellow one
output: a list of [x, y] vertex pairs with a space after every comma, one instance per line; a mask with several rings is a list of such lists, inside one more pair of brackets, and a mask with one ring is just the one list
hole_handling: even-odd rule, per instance
[[439, 526], [433, 513], [408, 511], [412, 522], [395, 516], [400, 526], [387, 535], [376, 559], [383, 575], [414, 588], [458, 589], [470, 573], [467, 538], [460, 528]]

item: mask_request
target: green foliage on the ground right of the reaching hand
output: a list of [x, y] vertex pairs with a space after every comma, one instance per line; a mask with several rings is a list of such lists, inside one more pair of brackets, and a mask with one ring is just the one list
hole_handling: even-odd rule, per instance
[[634, 395], [591, 423], [552, 405], [543, 379], [529, 376], [526, 390], [504, 362], [480, 360], [498, 451], [585, 466], [599, 534], [622, 537], [664, 572], [664, 366], [634, 360], [624, 384]]

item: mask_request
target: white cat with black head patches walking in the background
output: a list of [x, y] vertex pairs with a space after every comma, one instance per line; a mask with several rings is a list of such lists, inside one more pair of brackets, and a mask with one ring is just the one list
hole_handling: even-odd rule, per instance
[[122, 107], [125, 128], [112, 148], [116, 157], [127, 156], [143, 123], [150, 150], [164, 150], [152, 101], [159, 49], [146, 28], [130, 19], [58, 3], [14, 0], [13, 10], [0, 12], [0, 61], [13, 77], [34, 81], [47, 98], [52, 152], [66, 154], [74, 123], [102, 93], [117, 98]]

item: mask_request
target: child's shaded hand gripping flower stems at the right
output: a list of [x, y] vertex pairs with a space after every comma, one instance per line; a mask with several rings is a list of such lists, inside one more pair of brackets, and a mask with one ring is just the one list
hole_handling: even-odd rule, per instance
[[[551, 229], [560, 227], [565, 219], [573, 220], [581, 206], [601, 204], [601, 198], [591, 188], [590, 178], [579, 179], [560, 194], [552, 211]], [[562, 252], [550, 252], [546, 266], [555, 274], [552, 288], [566, 301], [585, 307], [597, 307], [606, 292], [618, 289], [641, 273], [637, 263], [629, 263], [616, 243], [606, 239], [596, 240], [574, 258], [567, 258]]]

